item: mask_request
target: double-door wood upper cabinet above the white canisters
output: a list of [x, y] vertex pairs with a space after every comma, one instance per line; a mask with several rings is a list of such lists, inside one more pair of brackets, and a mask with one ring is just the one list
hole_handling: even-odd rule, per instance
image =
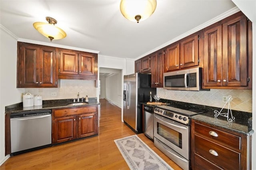
[[57, 87], [56, 48], [18, 42], [17, 87]]

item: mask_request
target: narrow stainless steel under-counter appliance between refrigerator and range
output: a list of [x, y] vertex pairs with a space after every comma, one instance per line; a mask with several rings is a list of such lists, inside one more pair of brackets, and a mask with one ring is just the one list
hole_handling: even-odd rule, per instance
[[144, 134], [150, 138], [154, 139], [154, 107], [144, 106]]

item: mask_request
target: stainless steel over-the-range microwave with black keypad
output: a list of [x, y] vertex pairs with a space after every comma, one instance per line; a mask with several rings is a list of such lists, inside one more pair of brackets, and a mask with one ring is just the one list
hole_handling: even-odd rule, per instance
[[164, 89], [199, 91], [201, 75], [201, 67], [164, 73]]

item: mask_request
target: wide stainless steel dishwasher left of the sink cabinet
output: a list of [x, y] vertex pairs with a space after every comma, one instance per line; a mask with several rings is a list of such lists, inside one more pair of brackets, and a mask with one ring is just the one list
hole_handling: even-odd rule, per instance
[[46, 110], [10, 115], [11, 155], [52, 145], [51, 113], [51, 110]]

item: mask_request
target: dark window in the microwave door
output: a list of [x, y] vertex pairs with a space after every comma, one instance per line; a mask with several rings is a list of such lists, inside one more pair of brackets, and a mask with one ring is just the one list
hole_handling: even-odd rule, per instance
[[184, 74], [164, 77], [165, 87], [185, 87]]

